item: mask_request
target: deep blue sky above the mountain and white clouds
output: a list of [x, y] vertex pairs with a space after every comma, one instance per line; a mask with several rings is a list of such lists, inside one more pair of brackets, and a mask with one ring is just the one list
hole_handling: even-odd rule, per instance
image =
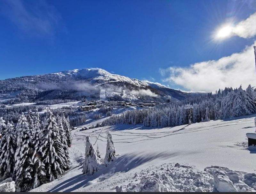
[[2, 0], [0, 79], [98, 67], [199, 91], [170, 78], [169, 68], [242, 52], [254, 36], [215, 41], [213, 34], [255, 11], [252, 0]]

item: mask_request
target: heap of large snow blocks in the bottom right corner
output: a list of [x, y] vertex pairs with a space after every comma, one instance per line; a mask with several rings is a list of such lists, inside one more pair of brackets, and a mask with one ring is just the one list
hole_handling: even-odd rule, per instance
[[233, 171], [225, 167], [206, 167], [206, 172], [213, 175], [213, 191], [218, 192], [255, 192], [256, 175]]

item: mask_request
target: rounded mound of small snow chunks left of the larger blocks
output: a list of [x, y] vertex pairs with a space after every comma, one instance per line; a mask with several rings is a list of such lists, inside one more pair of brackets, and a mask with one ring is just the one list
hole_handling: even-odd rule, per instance
[[[146, 171], [146, 173], [145, 173]], [[189, 166], [165, 164], [160, 167], [143, 170], [136, 183], [116, 186], [117, 192], [211, 192], [212, 175], [198, 172]], [[133, 178], [134, 179], [134, 178]]]

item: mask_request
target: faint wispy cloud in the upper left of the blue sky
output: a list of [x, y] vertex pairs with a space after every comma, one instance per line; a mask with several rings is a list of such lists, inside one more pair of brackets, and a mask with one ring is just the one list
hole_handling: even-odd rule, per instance
[[0, 12], [28, 35], [53, 36], [61, 24], [58, 11], [44, 0], [4, 0], [0, 7]]

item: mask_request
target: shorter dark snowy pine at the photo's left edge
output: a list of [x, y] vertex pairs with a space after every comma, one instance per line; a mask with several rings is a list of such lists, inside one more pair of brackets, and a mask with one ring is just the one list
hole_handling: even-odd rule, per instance
[[14, 126], [7, 123], [0, 141], [0, 182], [13, 176], [15, 166], [16, 137]]

